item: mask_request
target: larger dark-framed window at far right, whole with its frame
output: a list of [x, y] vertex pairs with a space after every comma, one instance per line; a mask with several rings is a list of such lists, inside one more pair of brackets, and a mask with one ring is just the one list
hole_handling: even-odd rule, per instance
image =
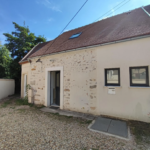
[[130, 86], [149, 86], [148, 67], [130, 67]]

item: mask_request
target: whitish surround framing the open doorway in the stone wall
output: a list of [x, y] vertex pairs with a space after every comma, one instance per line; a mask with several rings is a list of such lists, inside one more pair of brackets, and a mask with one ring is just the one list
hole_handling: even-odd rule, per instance
[[50, 106], [50, 71], [60, 71], [60, 109], [63, 109], [63, 66], [45, 68], [45, 106]]

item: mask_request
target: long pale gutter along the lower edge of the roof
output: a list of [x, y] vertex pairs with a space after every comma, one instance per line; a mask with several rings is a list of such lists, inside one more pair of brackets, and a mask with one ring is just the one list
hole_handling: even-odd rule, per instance
[[[86, 46], [86, 47], [61, 51], [61, 52], [57, 52], [57, 53], [42, 55], [42, 57], [46, 57], [46, 56], [49, 56], [49, 55], [56, 55], [56, 54], [65, 53], [65, 52], [72, 52], [72, 51], [77, 51], [77, 50], [82, 50], [82, 49], [88, 49], [88, 48], [93, 48], [93, 47], [105, 46], [105, 45], [110, 45], [110, 44], [116, 44], [116, 43], [121, 43], [121, 42], [127, 42], [127, 41], [142, 39], [142, 38], [148, 38], [148, 37], [150, 37], [150, 35], [139, 36], [139, 37], [129, 38], [129, 39], [126, 39], [126, 40], [119, 40], [119, 41], [108, 42], [108, 43], [104, 43], [104, 44], [98, 44], [98, 45], [92, 45], [92, 46]], [[35, 56], [35, 57], [28, 58], [27, 60], [31, 60], [31, 59], [39, 58], [39, 57], [41, 58], [41, 56]]]

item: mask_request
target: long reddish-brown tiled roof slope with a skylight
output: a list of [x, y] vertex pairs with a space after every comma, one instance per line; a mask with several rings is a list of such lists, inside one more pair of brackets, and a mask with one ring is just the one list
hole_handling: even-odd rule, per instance
[[[145, 9], [150, 12], [150, 5], [146, 6]], [[79, 37], [69, 39], [73, 34], [79, 32], [82, 32]], [[142, 8], [138, 8], [64, 32], [52, 46], [50, 46], [51, 42], [47, 43], [37, 52], [30, 54], [29, 58], [144, 35], [150, 35], [150, 17]]]

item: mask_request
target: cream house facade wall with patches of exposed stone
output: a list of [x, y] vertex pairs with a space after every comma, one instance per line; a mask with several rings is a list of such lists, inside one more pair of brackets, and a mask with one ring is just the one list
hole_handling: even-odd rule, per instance
[[[150, 88], [130, 87], [129, 67], [150, 65], [150, 38], [49, 55], [22, 65], [34, 101], [46, 104], [45, 69], [63, 67], [63, 109], [150, 122]], [[104, 69], [120, 68], [121, 86], [108, 94]], [[26, 71], [25, 71], [26, 70]], [[150, 73], [149, 73], [150, 75]]]

